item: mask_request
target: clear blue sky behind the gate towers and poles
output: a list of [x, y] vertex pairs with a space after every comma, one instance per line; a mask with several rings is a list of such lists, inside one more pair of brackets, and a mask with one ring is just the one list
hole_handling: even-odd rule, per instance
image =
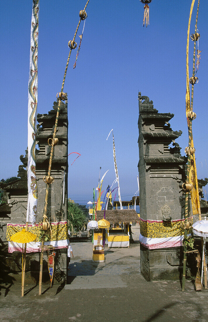
[[[64, 91], [68, 93], [69, 197], [82, 204], [92, 199], [93, 187], [109, 169], [103, 188], [114, 178], [113, 128], [122, 199], [137, 191], [138, 91], [153, 100], [159, 112], [174, 113], [173, 130], [182, 130], [177, 143], [182, 155], [188, 143], [185, 117], [185, 52], [191, 0], [153, 0], [150, 25], [143, 28], [143, 5], [138, 0], [90, 0], [77, 66], [71, 54]], [[38, 113], [52, 109], [61, 90], [79, 11], [86, 0], [40, 0], [38, 52]], [[190, 33], [194, 33], [197, 0]], [[0, 179], [17, 175], [19, 156], [27, 147], [27, 102], [32, 1], [1, 0], [1, 128]], [[207, 174], [208, 4], [201, 1], [198, 30], [202, 50], [194, 86], [194, 146], [198, 178]], [[80, 24], [78, 34], [82, 31]], [[76, 38], [79, 44], [79, 37]], [[190, 41], [189, 72], [193, 42]], [[206, 190], [206, 189], [205, 189]], [[208, 191], [208, 190], [207, 190]]]

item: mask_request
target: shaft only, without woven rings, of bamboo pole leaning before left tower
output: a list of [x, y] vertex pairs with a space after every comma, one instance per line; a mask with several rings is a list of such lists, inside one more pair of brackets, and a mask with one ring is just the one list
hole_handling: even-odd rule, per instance
[[[84, 7], [84, 12], [85, 12], [85, 9], [88, 5], [90, 0], [87, 1], [85, 7]], [[85, 18], [84, 18], [85, 19]], [[74, 40], [75, 40], [75, 37], [76, 37], [76, 34], [77, 34], [77, 31], [78, 31], [78, 28], [79, 28], [79, 25], [80, 25], [80, 22], [81, 20], [84, 20], [80, 17], [80, 21], [77, 25], [77, 29], [75, 31], [75, 34], [74, 34], [74, 38], [73, 40], [71, 41], [72, 45], [74, 43]], [[62, 86], [61, 86], [61, 93], [63, 92], [63, 87], [64, 87], [64, 82], [65, 82], [65, 78], [66, 78], [66, 72], [67, 72], [67, 69], [68, 69], [68, 65], [69, 65], [69, 60], [70, 60], [70, 56], [71, 56], [71, 51], [72, 51], [72, 46], [70, 48], [70, 52], [69, 52], [69, 56], [68, 56], [68, 59], [67, 59], [67, 63], [66, 63], [66, 68], [65, 68], [65, 72], [64, 72], [64, 76], [63, 76], [63, 82], [62, 82]], [[50, 177], [51, 176], [51, 166], [52, 166], [52, 158], [53, 158], [53, 150], [54, 150], [54, 146], [55, 146], [55, 137], [56, 137], [56, 131], [57, 131], [57, 125], [58, 125], [58, 119], [59, 119], [59, 112], [60, 112], [60, 106], [61, 106], [61, 97], [57, 97], [58, 98], [58, 107], [57, 107], [57, 114], [56, 114], [56, 121], [55, 121], [55, 127], [54, 127], [54, 132], [53, 132], [53, 139], [52, 139], [52, 147], [51, 147], [51, 154], [50, 154], [50, 160], [49, 160], [49, 167], [48, 167], [48, 176]], [[45, 190], [45, 204], [44, 204], [44, 211], [43, 211], [43, 223], [46, 222], [47, 220], [47, 205], [48, 205], [48, 191], [49, 191], [49, 184], [46, 183], [46, 190]], [[44, 251], [44, 241], [41, 243], [41, 258], [40, 258], [40, 277], [39, 277], [39, 295], [41, 295], [42, 293], [42, 276], [43, 276], [43, 251]]]

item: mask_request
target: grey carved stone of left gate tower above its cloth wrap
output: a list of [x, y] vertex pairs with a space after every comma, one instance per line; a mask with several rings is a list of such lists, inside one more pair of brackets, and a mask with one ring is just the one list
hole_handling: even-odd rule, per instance
[[[57, 113], [57, 102], [53, 103], [53, 110], [48, 114], [38, 114], [36, 144], [39, 150], [36, 150], [36, 178], [38, 186], [38, 209], [37, 217], [43, 217], [45, 188], [46, 184], [43, 177], [48, 174], [49, 159], [51, 147], [48, 145], [48, 139], [52, 138], [55, 119]], [[50, 221], [59, 221], [67, 219], [67, 174], [68, 174], [68, 118], [67, 118], [67, 100], [65, 104], [61, 102], [60, 115], [56, 137], [59, 139], [58, 145], [54, 148], [52, 159], [51, 175], [54, 182], [49, 186], [47, 216]], [[51, 144], [51, 140], [49, 140]]]

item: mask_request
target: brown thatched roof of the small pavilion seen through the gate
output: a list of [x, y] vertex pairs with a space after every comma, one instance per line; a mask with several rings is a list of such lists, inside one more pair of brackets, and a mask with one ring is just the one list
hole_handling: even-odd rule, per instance
[[[97, 210], [97, 221], [103, 219], [104, 210]], [[134, 209], [115, 209], [106, 210], [105, 219], [110, 223], [135, 223], [139, 221], [139, 217]]]

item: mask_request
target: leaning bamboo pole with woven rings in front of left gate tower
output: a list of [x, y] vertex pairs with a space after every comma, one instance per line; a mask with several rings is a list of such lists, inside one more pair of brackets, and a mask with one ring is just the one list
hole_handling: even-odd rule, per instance
[[[87, 14], [86, 14], [85, 9], [86, 9], [89, 1], [90, 0], [87, 1], [86, 5], [84, 7], [84, 10], [80, 10], [80, 21], [79, 21], [79, 23], [77, 25], [77, 29], [76, 29], [75, 34], [74, 34], [74, 38], [73, 38], [73, 40], [70, 40], [69, 43], [68, 43], [68, 46], [70, 48], [70, 52], [69, 52], [69, 56], [68, 56], [68, 60], [67, 60], [67, 63], [66, 63], [66, 68], [65, 68], [64, 76], [63, 76], [63, 82], [62, 82], [62, 86], [61, 86], [61, 92], [60, 93], [57, 93], [58, 108], [57, 108], [57, 114], [56, 114], [55, 127], [54, 127], [53, 137], [51, 139], [49, 139], [50, 140], [49, 141], [50, 142], [49, 145], [51, 146], [51, 154], [50, 154], [50, 160], [49, 160], [48, 175], [43, 178], [44, 182], [46, 183], [45, 204], [44, 204], [44, 211], [43, 211], [43, 230], [47, 230], [49, 228], [49, 225], [50, 225], [49, 222], [48, 222], [48, 217], [46, 215], [46, 213], [47, 213], [47, 205], [48, 205], [48, 191], [49, 191], [49, 185], [52, 184], [53, 181], [54, 181], [54, 178], [51, 176], [51, 166], [52, 166], [52, 158], [53, 158], [54, 146], [56, 144], [58, 144], [58, 141], [57, 141], [57, 138], [56, 138], [56, 130], [57, 130], [57, 125], [58, 125], [58, 119], [59, 119], [59, 111], [60, 111], [60, 106], [61, 106], [61, 100], [65, 100], [66, 99], [66, 94], [63, 93], [63, 87], [64, 87], [65, 78], [66, 78], [66, 72], [67, 72], [68, 65], [69, 65], [71, 51], [77, 47], [77, 43], [75, 42], [75, 37], [76, 37], [77, 31], [78, 31], [80, 22], [82, 20], [85, 20], [87, 18]], [[41, 244], [39, 295], [41, 295], [41, 293], [42, 293], [43, 251], [44, 251], [44, 241]]]

